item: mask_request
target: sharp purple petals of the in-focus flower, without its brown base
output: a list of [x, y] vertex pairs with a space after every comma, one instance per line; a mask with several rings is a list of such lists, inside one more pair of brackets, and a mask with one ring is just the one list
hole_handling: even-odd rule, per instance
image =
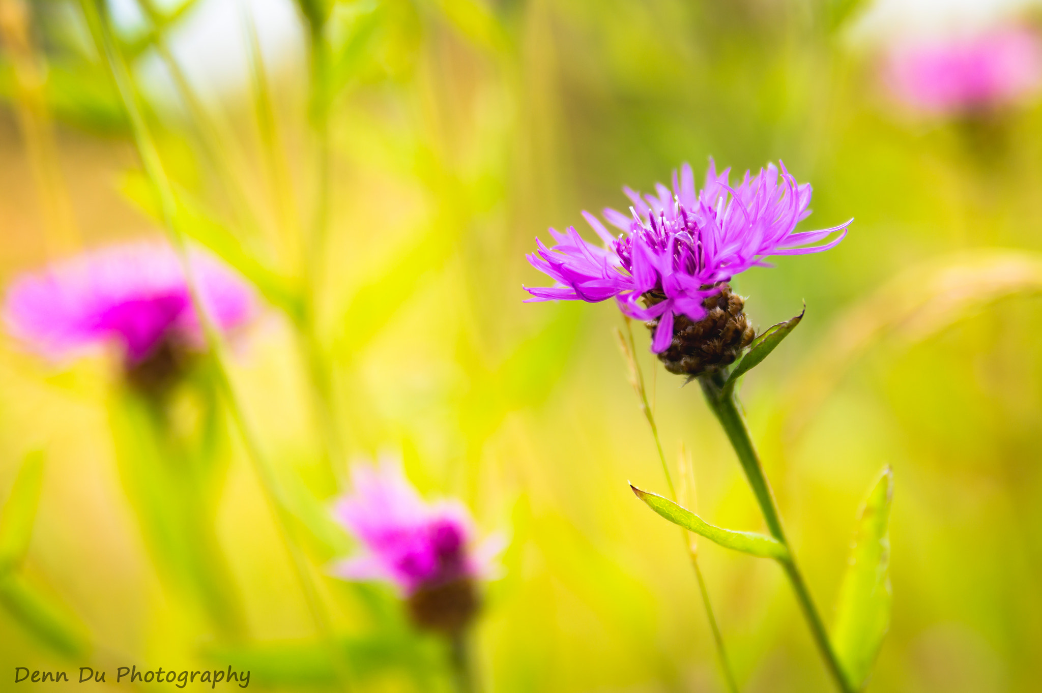
[[[769, 164], [755, 176], [745, 173], [731, 187], [730, 170], [716, 173], [710, 160], [705, 185], [695, 191], [691, 166], [684, 164], [673, 189], [655, 186], [656, 196], [643, 198], [623, 188], [632, 202], [627, 216], [605, 209], [610, 224], [624, 231], [618, 238], [593, 214], [582, 216], [604, 241], [584, 240], [574, 227], [566, 233], [550, 229], [557, 245], [548, 249], [538, 238], [538, 253], [528, 261], [556, 281], [552, 287], [525, 287], [529, 301], [582, 300], [591, 303], [614, 297], [626, 315], [641, 320], [660, 317], [651, 351], [669, 348], [674, 315], [692, 320], [705, 316], [703, 301], [719, 293], [722, 284], [752, 266], [770, 266], [771, 255], [817, 253], [836, 246], [850, 222], [820, 231], [795, 233], [796, 224], [811, 212], [811, 186], [798, 185], [782, 164]], [[853, 221], [853, 220], [850, 220]], [[808, 248], [841, 232], [833, 241]], [[642, 298], [653, 297], [645, 304]]]

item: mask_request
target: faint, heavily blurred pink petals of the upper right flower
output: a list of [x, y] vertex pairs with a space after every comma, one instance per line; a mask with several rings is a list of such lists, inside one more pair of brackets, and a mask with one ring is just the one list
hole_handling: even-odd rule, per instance
[[1042, 81], [1042, 45], [1023, 27], [895, 47], [885, 79], [901, 101], [932, 113], [984, 110], [1015, 102]]

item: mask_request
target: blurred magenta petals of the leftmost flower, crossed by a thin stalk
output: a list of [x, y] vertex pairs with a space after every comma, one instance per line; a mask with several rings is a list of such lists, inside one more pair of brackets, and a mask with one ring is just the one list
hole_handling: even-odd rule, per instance
[[[197, 248], [189, 262], [203, 308], [222, 330], [254, 312], [252, 288]], [[130, 364], [166, 337], [198, 342], [201, 328], [180, 259], [167, 243], [134, 241], [91, 251], [20, 277], [7, 291], [8, 331], [50, 358], [119, 342]]]

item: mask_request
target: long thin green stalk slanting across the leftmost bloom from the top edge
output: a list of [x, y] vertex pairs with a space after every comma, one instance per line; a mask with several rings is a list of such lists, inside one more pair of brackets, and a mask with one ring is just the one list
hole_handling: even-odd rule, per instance
[[164, 222], [167, 227], [168, 234], [170, 235], [171, 242], [180, 255], [185, 277], [188, 278], [189, 293], [192, 299], [192, 305], [196, 314], [199, 315], [199, 322], [202, 326], [205, 344], [214, 359], [214, 375], [218, 389], [228, 407], [228, 412], [231, 414], [235, 428], [240, 432], [243, 444], [247, 451], [247, 457], [252, 463], [254, 471], [257, 474], [257, 479], [260, 482], [260, 488], [264, 492], [265, 499], [268, 502], [269, 507], [275, 515], [277, 520], [276, 525], [286, 544], [287, 550], [290, 554], [294, 571], [296, 572], [297, 579], [300, 583], [304, 599], [307, 602], [308, 611], [315, 621], [316, 630], [326, 642], [329, 649], [329, 656], [337, 669], [338, 676], [344, 684], [344, 688], [347, 689], [349, 688], [349, 673], [347, 672], [344, 663], [337, 651], [332, 640], [332, 631], [329, 620], [325, 614], [318, 590], [308, 570], [303, 551], [293, 537], [291, 525], [292, 518], [290, 516], [290, 512], [287, 510], [286, 503], [275, 483], [274, 474], [260, 450], [259, 443], [257, 442], [251, 427], [246, 420], [243, 408], [239, 403], [238, 396], [235, 395], [234, 388], [232, 387], [231, 380], [228, 377], [228, 371], [225, 366], [220, 334], [215, 328], [210, 315], [204, 310], [202, 302], [199, 300], [198, 286], [196, 285], [195, 278], [191, 272], [191, 266], [188, 263], [188, 247], [184, 233], [176, 221], [177, 203], [174, 198], [173, 188], [170, 184], [170, 180], [167, 178], [166, 171], [163, 169], [158, 151], [155, 148], [155, 144], [152, 142], [148, 126], [146, 125], [144, 116], [138, 105], [137, 93], [132, 85], [129, 70], [123, 62], [122, 55], [119, 53], [115, 38], [111, 35], [111, 30], [104, 18], [104, 7], [99, 6], [102, 0], [80, 0], [83, 14], [88, 20], [91, 32], [94, 35], [95, 43], [98, 45], [99, 51], [105, 56], [105, 59], [108, 62], [113, 78], [116, 81], [116, 86], [120, 93], [121, 99], [123, 100], [123, 105], [129, 116], [134, 140], [138, 146], [138, 152], [142, 158], [142, 163], [145, 168], [146, 174], [155, 186], [156, 192], [159, 197]]

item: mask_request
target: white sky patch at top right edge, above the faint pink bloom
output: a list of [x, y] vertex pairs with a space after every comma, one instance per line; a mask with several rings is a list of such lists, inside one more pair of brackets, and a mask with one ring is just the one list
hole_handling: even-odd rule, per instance
[[847, 30], [854, 46], [973, 33], [1042, 7], [1042, 0], [869, 0]]

